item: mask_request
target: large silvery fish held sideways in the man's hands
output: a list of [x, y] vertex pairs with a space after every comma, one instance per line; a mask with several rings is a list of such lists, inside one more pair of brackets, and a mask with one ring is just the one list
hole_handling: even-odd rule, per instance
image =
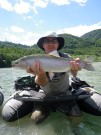
[[[26, 69], [27, 67], [32, 67], [37, 61], [40, 62], [46, 72], [69, 72], [71, 70], [70, 62], [73, 61], [73, 58], [56, 57], [49, 54], [34, 54], [12, 61], [12, 67]], [[90, 61], [80, 60], [79, 64], [83, 69], [95, 70]]]

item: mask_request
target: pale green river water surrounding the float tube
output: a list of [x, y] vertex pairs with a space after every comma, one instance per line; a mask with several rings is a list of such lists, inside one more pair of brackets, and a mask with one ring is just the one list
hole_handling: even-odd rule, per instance
[[[96, 71], [82, 70], [78, 76], [101, 92], [101, 62], [93, 64]], [[25, 71], [13, 68], [0, 69], [0, 91], [7, 101], [14, 92], [14, 81], [18, 77], [29, 75]], [[35, 125], [30, 114], [12, 123], [4, 122], [0, 108], [0, 135], [101, 135], [101, 116], [83, 113], [79, 118], [67, 117], [60, 112], [52, 113], [42, 124]]]

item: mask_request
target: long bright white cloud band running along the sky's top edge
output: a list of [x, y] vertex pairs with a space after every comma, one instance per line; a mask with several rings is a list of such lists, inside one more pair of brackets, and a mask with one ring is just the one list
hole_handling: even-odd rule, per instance
[[28, 14], [31, 11], [38, 14], [37, 8], [46, 8], [49, 3], [62, 6], [72, 2], [84, 6], [87, 0], [27, 0], [27, 2], [19, 0], [19, 2], [15, 1], [13, 5], [8, 0], [0, 0], [0, 7], [7, 11], [15, 11], [18, 14]]

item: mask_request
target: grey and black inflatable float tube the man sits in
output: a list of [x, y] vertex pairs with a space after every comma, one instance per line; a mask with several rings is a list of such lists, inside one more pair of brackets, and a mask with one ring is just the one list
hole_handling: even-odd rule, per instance
[[54, 108], [60, 103], [65, 103], [68, 106], [72, 101], [77, 103], [81, 111], [101, 116], [101, 94], [85, 81], [76, 78], [71, 84], [72, 95], [65, 93], [58, 96], [45, 96], [44, 93], [39, 92], [40, 88], [36, 88], [36, 84], [33, 82], [34, 78], [29, 76], [20, 78], [15, 82], [16, 91], [6, 101], [2, 109], [2, 117], [5, 121], [11, 122], [22, 118], [32, 112], [34, 105], [40, 103]]

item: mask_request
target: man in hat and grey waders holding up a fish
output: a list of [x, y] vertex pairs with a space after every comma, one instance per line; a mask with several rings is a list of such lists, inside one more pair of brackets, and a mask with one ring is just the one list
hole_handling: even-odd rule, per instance
[[[59, 50], [61, 50], [64, 46], [64, 38], [58, 37], [56, 33], [41, 37], [38, 40], [37, 45], [46, 54], [50, 54], [53, 52], [53, 55], [57, 57], [70, 57], [68, 54], [59, 52]], [[77, 72], [80, 70], [80, 65], [78, 61], [79, 58], [71, 61], [71, 74], [73, 76], [76, 76]], [[63, 93], [71, 95], [71, 92], [69, 91], [70, 82], [68, 73], [46, 73], [42, 67], [42, 64], [39, 61], [36, 61], [36, 63], [33, 64], [33, 67], [28, 67], [27, 72], [32, 73], [36, 76], [35, 82], [41, 87], [41, 92], [43, 92], [46, 96], [61, 95]], [[57, 108], [61, 109], [62, 106], [63, 104], [61, 104]], [[68, 115], [69, 113], [70, 112], [67, 111], [65, 114]], [[39, 123], [43, 119], [45, 119], [48, 114], [49, 110], [46, 106], [37, 105], [36, 108], [34, 108], [33, 110], [31, 119], [34, 120], [36, 123]]]

